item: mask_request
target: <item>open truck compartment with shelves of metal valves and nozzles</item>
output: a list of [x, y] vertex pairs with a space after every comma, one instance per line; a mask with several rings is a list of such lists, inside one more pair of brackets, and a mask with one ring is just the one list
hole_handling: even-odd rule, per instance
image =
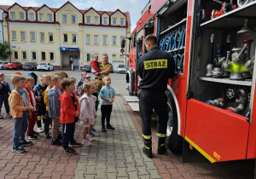
[[[203, 3], [201, 7], [205, 7], [205, 12], [216, 8], [212, 8], [212, 2]], [[220, 107], [227, 113], [250, 117], [249, 111], [253, 106], [251, 90], [256, 73], [255, 65], [251, 63], [251, 67], [247, 68], [247, 64], [253, 62], [255, 56], [256, 32], [248, 31], [247, 35], [242, 35], [246, 31], [239, 31], [247, 21], [256, 30], [255, 17], [256, 1], [253, 1], [218, 17], [205, 18], [197, 24], [199, 28], [195, 31], [200, 32], [200, 37], [194, 42], [189, 98]], [[242, 52], [245, 45], [247, 48]], [[244, 72], [247, 71], [244, 67], [250, 73]]]

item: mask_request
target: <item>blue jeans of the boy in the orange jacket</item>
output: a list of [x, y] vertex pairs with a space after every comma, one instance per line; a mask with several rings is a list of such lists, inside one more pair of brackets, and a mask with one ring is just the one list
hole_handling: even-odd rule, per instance
[[21, 118], [15, 118], [15, 130], [13, 136], [13, 144], [20, 146], [20, 141], [25, 140], [25, 133], [27, 130], [27, 117], [28, 114], [24, 114]]

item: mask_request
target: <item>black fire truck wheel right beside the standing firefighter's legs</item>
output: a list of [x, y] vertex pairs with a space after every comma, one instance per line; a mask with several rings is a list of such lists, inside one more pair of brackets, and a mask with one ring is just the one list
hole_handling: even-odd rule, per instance
[[183, 148], [183, 137], [177, 134], [177, 109], [169, 90], [166, 90], [166, 95], [168, 97], [167, 106], [169, 112], [166, 131], [166, 147], [172, 152], [179, 152], [182, 151]]

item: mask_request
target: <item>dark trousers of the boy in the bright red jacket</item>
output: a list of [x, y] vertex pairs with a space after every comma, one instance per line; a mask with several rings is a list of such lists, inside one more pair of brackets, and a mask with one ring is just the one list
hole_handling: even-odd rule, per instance
[[75, 123], [62, 124], [62, 146], [66, 150], [68, 147], [68, 141], [73, 143], [75, 140], [73, 138], [75, 130]]

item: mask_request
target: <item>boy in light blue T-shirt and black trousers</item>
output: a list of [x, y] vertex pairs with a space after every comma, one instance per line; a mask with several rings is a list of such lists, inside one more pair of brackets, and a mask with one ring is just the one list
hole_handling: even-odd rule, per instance
[[[102, 98], [102, 132], [106, 132], [106, 128], [108, 130], [114, 130], [113, 126], [110, 124], [110, 116], [113, 107], [114, 95], [116, 94], [113, 90], [113, 87], [110, 86], [111, 78], [106, 76], [103, 79], [103, 83], [105, 86], [102, 87], [100, 92], [100, 96]], [[107, 125], [105, 128], [105, 119], [107, 120]]]

